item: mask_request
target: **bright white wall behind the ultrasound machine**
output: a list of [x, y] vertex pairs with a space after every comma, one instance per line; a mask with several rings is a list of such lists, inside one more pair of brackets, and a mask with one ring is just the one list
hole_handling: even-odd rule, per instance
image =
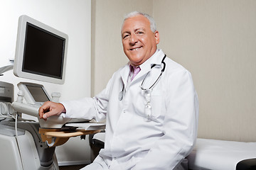
[[[53, 91], [62, 94], [60, 100], [70, 100], [90, 96], [90, 22], [91, 4], [84, 0], [1, 0], [0, 1], [0, 67], [14, 58], [18, 17], [31, 16], [46, 25], [68, 34], [68, 61], [65, 84], [57, 85], [15, 77], [12, 71], [0, 77], [15, 86], [19, 81], [43, 84], [49, 94]], [[50, 61], [49, 61], [50, 62]], [[72, 141], [72, 142], [70, 142]], [[90, 162], [88, 141], [80, 137], [70, 139], [57, 147], [58, 161], [62, 164], [82, 164]]]

